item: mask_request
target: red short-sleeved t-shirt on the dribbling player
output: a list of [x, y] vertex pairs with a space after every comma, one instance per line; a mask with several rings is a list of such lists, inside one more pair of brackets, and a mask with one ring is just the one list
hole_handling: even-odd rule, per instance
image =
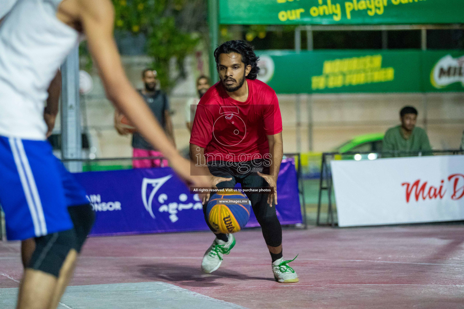
[[245, 162], [269, 153], [266, 135], [282, 132], [282, 116], [275, 91], [249, 80], [248, 99], [227, 95], [221, 82], [209, 88], [198, 103], [190, 144], [205, 148], [209, 161]]

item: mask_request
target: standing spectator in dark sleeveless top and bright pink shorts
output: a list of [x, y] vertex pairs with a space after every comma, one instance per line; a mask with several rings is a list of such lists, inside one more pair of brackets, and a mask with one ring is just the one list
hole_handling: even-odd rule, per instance
[[[142, 71], [142, 80], [145, 87], [144, 89], [139, 90], [139, 92], [175, 147], [173, 124], [171, 115], [169, 114], [168, 96], [163, 91], [156, 89], [156, 84], [158, 82], [156, 77], [157, 74], [155, 70], [144, 69]], [[115, 119], [118, 117], [118, 114], [119, 113], [116, 111]], [[124, 128], [120, 128], [117, 125], [116, 130], [121, 134], [128, 134]], [[132, 135], [132, 148], [134, 148], [133, 158], [163, 157], [163, 154], [160, 151], [153, 149], [153, 147], [145, 139], [143, 139], [139, 132], [134, 132]], [[132, 166], [135, 169], [164, 167], [168, 166], [168, 160], [164, 158], [142, 160], [134, 159], [132, 161]]]

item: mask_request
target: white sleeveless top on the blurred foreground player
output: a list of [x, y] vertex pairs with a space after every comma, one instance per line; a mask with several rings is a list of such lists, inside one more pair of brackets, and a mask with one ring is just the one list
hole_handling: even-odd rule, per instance
[[45, 140], [47, 89], [78, 44], [56, 17], [61, 0], [18, 0], [0, 24], [0, 135]]

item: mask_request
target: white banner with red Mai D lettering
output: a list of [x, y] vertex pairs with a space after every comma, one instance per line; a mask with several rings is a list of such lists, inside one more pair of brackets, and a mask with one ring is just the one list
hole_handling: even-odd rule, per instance
[[340, 227], [464, 220], [464, 156], [332, 161]]

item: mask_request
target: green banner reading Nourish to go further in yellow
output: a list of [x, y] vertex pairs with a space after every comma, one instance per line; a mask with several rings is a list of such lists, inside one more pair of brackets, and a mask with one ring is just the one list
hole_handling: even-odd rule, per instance
[[464, 91], [456, 50], [258, 51], [260, 73], [277, 93]]

